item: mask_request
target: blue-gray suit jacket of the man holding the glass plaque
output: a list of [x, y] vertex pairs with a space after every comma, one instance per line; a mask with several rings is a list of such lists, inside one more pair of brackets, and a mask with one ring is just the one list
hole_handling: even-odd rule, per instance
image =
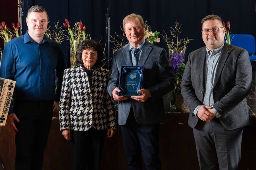
[[[113, 89], [118, 87], [121, 66], [125, 65], [132, 65], [129, 44], [116, 51], [112, 58], [112, 74], [107, 87], [111, 97]], [[172, 67], [166, 57], [166, 51], [146, 40], [142, 47], [138, 65], [144, 65], [143, 88], [149, 89], [152, 97], [145, 102], [131, 99], [119, 102], [118, 123], [119, 125], [126, 123], [131, 105], [139, 124], [165, 122], [163, 96], [174, 88]]]

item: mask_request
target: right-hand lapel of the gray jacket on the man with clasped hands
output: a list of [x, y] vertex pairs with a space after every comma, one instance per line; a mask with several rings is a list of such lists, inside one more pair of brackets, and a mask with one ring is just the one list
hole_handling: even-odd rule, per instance
[[217, 83], [217, 81], [220, 77], [221, 71], [222, 71], [222, 69], [223, 69], [223, 67], [226, 63], [228, 55], [233, 50], [233, 48], [231, 48], [227, 43], [225, 43], [222, 50], [223, 51], [220, 54], [220, 59], [219, 59], [218, 66], [217, 66], [217, 69], [216, 69], [216, 74], [215, 74], [215, 77], [214, 77], [213, 87], [215, 87], [215, 85], [216, 85], [216, 83]]

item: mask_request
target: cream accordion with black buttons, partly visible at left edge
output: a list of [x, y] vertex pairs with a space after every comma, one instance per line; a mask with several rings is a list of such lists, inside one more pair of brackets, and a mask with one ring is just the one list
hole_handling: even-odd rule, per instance
[[12, 94], [16, 81], [9, 79], [0, 78], [1, 81], [1, 97], [0, 97], [0, 125], [5, 125], [7, 115], [10, 108], [10, 103], [12, 101]]

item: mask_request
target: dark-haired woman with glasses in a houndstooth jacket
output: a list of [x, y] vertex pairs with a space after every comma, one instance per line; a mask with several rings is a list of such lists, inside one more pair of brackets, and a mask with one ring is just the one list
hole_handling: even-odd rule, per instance
[[98, 170], [104, 138], [116, 129], [114, 103], [107, 93], [109, 71], [101, 68], [102, 48], [81, 41], [76, 66], [64, 71], [59, 104], [60, 130], [71, 143], [71, 169]]

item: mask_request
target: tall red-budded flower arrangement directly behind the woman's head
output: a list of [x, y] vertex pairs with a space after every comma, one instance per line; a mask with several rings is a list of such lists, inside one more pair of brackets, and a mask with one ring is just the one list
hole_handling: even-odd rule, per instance
[[87, 35], [85, 34], [86, 28], [83, 26], [81, 21], [75, 22], [74, 27], [71, 28], [67, 19], [65, 19], [65, 22], [63, 22], [63, 26], [67, 28], [69, 33], [69, 36], [66, 36], [66, 39], [69, 40], [70, 44], [70, 64], [71, 67], [74, 67], [76, 62], [76, 48], [78, 46], [78, 42], [87, 38]]

